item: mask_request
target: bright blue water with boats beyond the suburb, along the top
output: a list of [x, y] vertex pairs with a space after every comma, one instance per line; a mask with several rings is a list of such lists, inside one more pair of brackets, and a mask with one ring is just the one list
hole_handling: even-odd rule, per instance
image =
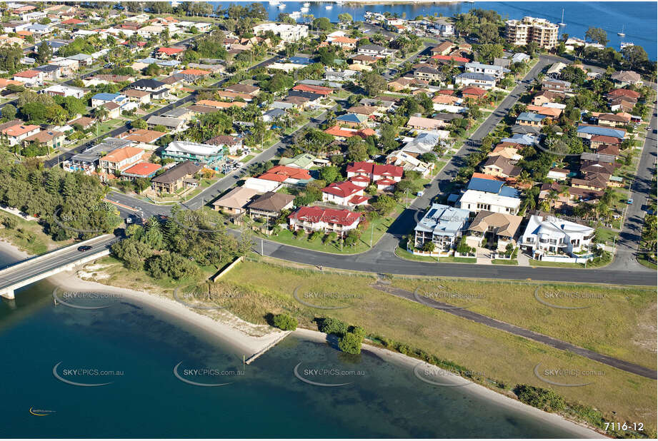
[[[218, 4], [251, 3], [246, 2], [211, 2], [216, 7]], [[286, 1], [285, 9], [278, 9], [268, 2], [262, 2], [269, 12], [269, 19], [275, 20], [280, 12], [291, 13], [299, 11], [302, 2]], [[566, 33], [584, 39], [585, 32], [589, 26], [602, 28], [607, 31], [609, 39], [608, 46], [619, 51], [622, 41], [629, 41], [642, 46], [649, 59], [656, 60], [658, 26], [656, 16], [658, 14], [658, 3], [653, 1], [477, 1], [475, 3], [457, 2], [443, 4], [332, 4], [332, 9], [325, 9], [327, 2], [311, 2], [309, 11], [305, 14], [313, 14], [315, 17], [327, 17], [332, 21], [338, 20], [338, 14], [347, 12], [355, 20], [362, 20], [365, 11], [392, 14], [406, 14], [407, 19], [414, 19], [419, 15], [443, 14], [452, 16], [454, 14], [466, 13], [470, 9], [493, 9], [503, 18], [522, 19], [523, 16], [536, 16], [558, 23], [564, 9], [564, 26], [560, 35]], [[301, 19], [299, 19], [301, 21]], [[624, 26], [625, 37], [617, 36], [617, 32]]]

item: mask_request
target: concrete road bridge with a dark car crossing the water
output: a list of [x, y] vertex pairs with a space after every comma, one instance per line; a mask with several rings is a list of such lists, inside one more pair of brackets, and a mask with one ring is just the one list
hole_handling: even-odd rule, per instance
[[[14, 291], [19, 288], [109, 255], [109, 248], [116, 240], [119, 238], [113, 234], [101, 235], [8, 265], [0, 270], [0, 296], [13, 299]], [[91, 248], [79, 251], [83, 245]]]

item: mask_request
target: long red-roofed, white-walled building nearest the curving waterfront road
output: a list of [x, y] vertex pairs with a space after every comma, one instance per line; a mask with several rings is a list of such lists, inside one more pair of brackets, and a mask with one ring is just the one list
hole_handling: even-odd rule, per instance
[[324, 233], [338, 233], [344, 237], [349, 230], [359, 226], [361, 214], [349, 210], [334, 210], [321, 207], [300, 207], [299, 210], [288, 216], [290, 229], [324, 231]]

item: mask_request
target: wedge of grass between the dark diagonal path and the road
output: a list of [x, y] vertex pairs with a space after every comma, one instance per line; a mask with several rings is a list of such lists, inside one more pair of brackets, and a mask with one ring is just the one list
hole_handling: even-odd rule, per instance
[[[442, 301], [468, 305], [474, 312], [656, 368], [656, 293], [649, 288], [446, 278], [394, 280], [393, 284], [409, 291], [419, 288], [419, 292], [480, 295], [477, 300], [442, 298]], [[535, 298], [535, 290], [546, 303], [582, 309], [542, 304]]]

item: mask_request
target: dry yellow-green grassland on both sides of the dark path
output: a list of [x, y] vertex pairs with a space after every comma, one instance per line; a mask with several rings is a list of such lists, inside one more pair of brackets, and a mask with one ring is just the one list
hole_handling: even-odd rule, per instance
[[[553, 388], [568, 402], [596, 407], [608, 421], [642, 421], [649, 430], [655, 430], [655, 380], [622, 372], [572, 353], [382, 293], [369, 286], [375, 281], [372, 276], [347, 272], [324, 274], [302, 269], [304, 265], [296, 267], [299, 269], [250, 261], [238, 265], [220, 283], [229, 287], [225, 289], [239, 290], [244, 295], [231, 300], [227, 304], [228, 308], [239, 317], [255, 323], [266, 323], [264, 317], [268, 313], [288, 312], [298, 318], [302, 326], [311, 329], [316, 328], [314, 318], [339, 318], [347, 323], [362, 325], [368, 333], [422, 348], [469, 370], [485, 372], [490, 380], [504, 383], [507, 390], [519, 383]], [[393, 283], [413, 290], [419, 282], [395, 278]], [[581, 310], [579, 313], [568, 313], [569, 317], [565, 317], [562, 311], [544, 310], [549, 308], [532, 299], [532, 288], [524, 285], [518, 288], [516, 283], [500, 282], [494, 286], [466, 280], [450, 283], [442, 281], [442, 284], [469, 292], [486, 290], [485, 293], [491, 293], [484, 298], [485, 305], [479, 307], [479, 312], [491, 310], [504, 320], [518, 321], [520, 325], [528, 325], [539, 331], [546, 330], [557, 337], [574, 340], [575, 343], [613, 355], [637, 353], [643, 360], [633, 361], [655, 366], [655, 355], [653, 361], [650, 360], [651, 351], [646, 348], [655, 345], [656, 340], [653, 328], [656, 321], [655, 300], [649, 290], [609, 290], [607, 294], [610, 300], [606, 298], [606, 301], [612, 301], [612, 305], [608, 304], [607, 309], [597, 308], [598, 315]], [[349, 307], [335, 310], [311, 308], [295, 300], [295, 288], [298, 288], [297, 297], [306, 303]], [[569, 285], [567, 288], [574, 287]], [[552, 290], [554, 286], [549, 285], [544, 289]], [[507, 295], [516, 301], [510, 300], [500, 308], [494, 308], [493, 305]], [[630, 300], [626, 300], [626, 297]], [[612, 310], [617, 307], [632, 315], [613, 313]], [[530, 319], [524, 319], [526, 315]], [[386, 320], [382, 320], [384, 317]], [[624, 352], [619, 347], [623, 338], [628, 339], [626, 345], [634, 348]], [[542, 363], [544, 368], [569, 367], [581, 371], [596, 370], [604, 374], [589, 378], [588, 381], [593, 381], [593, 384], [588, 386], [557, 387], [534, 375], [537, 363]], [[573, 382], [574, 379], [564, 380], [569, 381]]]

